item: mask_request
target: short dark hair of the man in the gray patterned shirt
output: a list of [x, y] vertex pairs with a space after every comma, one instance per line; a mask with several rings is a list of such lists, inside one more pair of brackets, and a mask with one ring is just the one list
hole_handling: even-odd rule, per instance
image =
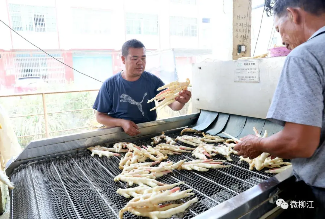
[[288, 7], [300, 7], [313, 15], [325, 12], [324, 0], [276, 0], [273, 7], [274, 15], [281, 17], [286, 14]]

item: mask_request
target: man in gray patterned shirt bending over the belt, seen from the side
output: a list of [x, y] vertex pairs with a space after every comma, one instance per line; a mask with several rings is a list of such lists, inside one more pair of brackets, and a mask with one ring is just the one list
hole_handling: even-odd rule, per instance
[[274, 15], [275, 28], [292, 52], [267, 119], [284, 128], [264, 139], [246, 136], [235, 150], [250, 159], [262, 152], [292, 159], [297, 180], [325, 208], [325, 1], [277, 0]]

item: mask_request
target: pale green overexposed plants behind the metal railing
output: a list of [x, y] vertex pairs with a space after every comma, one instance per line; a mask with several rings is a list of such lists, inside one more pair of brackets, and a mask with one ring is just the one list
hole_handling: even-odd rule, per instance
[[[97, 91], [74, 92], [46, 95], [46, 108], [48, 113], [91, 108], [96, 98]], [[12, 118], [12, 125], [17, 136], [27, 136], [18, 138], [21, 147], [25, 147], [31, 140], [44, 138], [45, 120], [43, 111], [42, 95], [4, 97], [0, 98], [9, 116], [24, 116]], [[36, 116], [25, 116], [35, 115]], [[93, 119], [92, 110], [64, 112], [48, 114], [49, 131], [59, 131], [64, 129], [81, 128], [87, 126], [87, 122]], [[51, 133], [51, 136], [70, 134], [79, 132], [81, 129]], [[35, 135], [40, 134], [40, 135]], [[35, 135], [35, 136], [29, 136]]]

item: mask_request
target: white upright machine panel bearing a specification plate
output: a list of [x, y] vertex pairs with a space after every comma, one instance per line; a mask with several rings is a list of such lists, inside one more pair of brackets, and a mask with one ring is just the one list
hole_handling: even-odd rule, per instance
[[285, 58], [193, 64], [193, 107], [265, 119]]

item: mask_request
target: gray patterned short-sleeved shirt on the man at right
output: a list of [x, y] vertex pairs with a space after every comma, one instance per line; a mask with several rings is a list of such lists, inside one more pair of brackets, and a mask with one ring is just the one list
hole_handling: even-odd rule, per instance
[[[325, 26], [287, 56], [266, 118], [321, 128], [318, 149], [310, 158], [292, 159], [297, 180], [325, 188]], [[308, 147], [308, 145], [306, 145]]]

